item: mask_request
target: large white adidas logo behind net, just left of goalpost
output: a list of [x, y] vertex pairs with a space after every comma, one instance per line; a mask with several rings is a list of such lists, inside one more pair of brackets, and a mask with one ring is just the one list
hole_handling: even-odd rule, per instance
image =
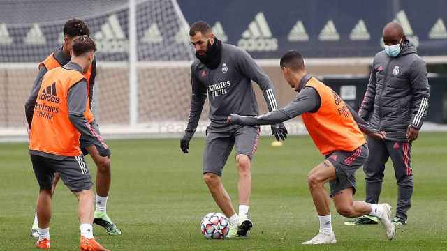
[[129, 43], [119, 24], [117, 15], [108, 17], [107, 22], [101, 25], [101, 31], [94, 35], [98, 51], [101, 52], [127, 52]]

